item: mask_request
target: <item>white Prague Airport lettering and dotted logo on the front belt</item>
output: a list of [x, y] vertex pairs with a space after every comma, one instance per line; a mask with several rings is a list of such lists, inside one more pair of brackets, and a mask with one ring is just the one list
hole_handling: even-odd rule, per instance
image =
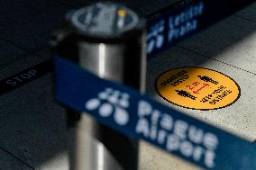
[[[129, 114], [132, 104], [136, 112]], [[209, 168], [215, 167], [215, 150], [219, 139], [214, 133], [174, 118], [145, 100], [137, 101], [130, 94], [107, 87], [96, 97], [87, 100], [85, 109], [96, 112], [103, 119], [111, 119], [121, 127], [131, 128], [137, 135], [169, 152], [178, 152], [196, 162], [203, 162]]]

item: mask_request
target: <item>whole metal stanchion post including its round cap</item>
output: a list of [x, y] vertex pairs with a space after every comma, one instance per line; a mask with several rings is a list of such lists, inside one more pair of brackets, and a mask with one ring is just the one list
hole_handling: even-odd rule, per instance
[[[57, 32], [52, 40], [55, 54], [101, 78], [143, 91], [146, 54], [142, 18], [109, 2], [81, 8], [67, 18], [67, 30]], [[137, 169], [137, 141], [83, 112], [67, 108], [67, 119], [71, 170]]]

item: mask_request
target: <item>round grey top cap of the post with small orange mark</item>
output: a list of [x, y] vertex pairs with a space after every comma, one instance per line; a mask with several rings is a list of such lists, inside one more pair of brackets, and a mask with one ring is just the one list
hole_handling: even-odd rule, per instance
[[145, 21], [123, 4], [101, 2], [67, 15], [72, 28], [87, 38], [113, 40], [145, 29]]

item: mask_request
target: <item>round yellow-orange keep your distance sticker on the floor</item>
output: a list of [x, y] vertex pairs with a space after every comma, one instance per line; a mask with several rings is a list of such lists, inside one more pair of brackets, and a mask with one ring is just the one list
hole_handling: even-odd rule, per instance
[[215, 110], [231, 105], [240, 87], [229, 76], [203, 67], [179, 67], [161, 74], [156, 91], [169, 103], [196, 110]]

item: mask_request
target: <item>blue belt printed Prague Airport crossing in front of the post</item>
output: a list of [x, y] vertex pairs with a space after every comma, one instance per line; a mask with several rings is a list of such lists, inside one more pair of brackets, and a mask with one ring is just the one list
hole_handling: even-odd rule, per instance
[[133, 139], [143, 139], [207, 169], [253, 169], [255, 144], [101, 79], [55, 57], [55, 97]]

